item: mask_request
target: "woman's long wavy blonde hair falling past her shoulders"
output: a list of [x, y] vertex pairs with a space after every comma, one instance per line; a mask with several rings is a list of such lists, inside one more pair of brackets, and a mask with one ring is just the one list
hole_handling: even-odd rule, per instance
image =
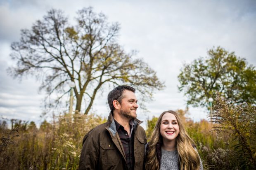
[[200, 158], [197, 151], [195, 151], [195, 149], [192, 147], [193, 140], [189, 137], [189, 135], [187, 135], [183, 123], [180, 120], [180, 116], [172, 110], [163, 112], [156, 122], [156, 126], [154, 127], [153, 133], [150, 137], [150, 142], [147, 146], [148, 151], [146, 153], [145, 163], [146, 170], [159, 170], [160, 168], [159, 160], [157, 159], [156, 155], [156, 144], [158, 142], [162, 143], [160, 125], [162, 117], [166, 113], [173, 114], [176, 117], [179, 125], [179, 134], [176, 137], [176, 148], [178, 151], [180, 170], [198, 170], [200, 167]]

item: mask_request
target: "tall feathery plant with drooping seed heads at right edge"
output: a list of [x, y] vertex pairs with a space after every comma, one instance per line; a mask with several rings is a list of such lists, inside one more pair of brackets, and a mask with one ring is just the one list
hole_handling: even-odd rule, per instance
[[256, 169], [256, 106], [237, 104], [232, 100], [216, 95], [212, 122], [217, 123], [213, 130], [229, 134], [229, 149], [237, 157], [237, 168]]

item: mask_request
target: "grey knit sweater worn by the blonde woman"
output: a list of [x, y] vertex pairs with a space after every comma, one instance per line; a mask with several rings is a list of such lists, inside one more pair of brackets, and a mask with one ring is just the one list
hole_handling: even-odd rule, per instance
[[[197, 150], [197, 149], [196, 149]], [[178, 151], [166, 151], [162, 149], [160, 170], [178, 170]], [[200, 170], [203, 170], [203, 165], [200, 159]]]

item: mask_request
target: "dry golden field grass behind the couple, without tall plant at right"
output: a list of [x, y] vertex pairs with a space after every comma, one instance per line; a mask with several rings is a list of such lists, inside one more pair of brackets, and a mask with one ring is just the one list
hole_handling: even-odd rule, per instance
[[[216, 123], [193, 122], [185, 117], [185, 112], [178, 112], [197, 146], [204, 169], [248, 169], [239, 163], [241, 158], [234, 148], [239, 140], [234, 134], [211, 131]], [[147, 121], [147, 136], [151, 135], [156, 120]], [[0, 170], [76, 170], [83, 136], [105, 121], [95, 115], [65, 114], [53, 116], [52, 122], [43, 121], [40, 128], [34, 122], [11, 120], [12, 129], [7, 128], [6, 121], [0, 121]], [[255, 127], [255, 120], [250, 123], [254, 125], [250, 127]], [[255, 134], [255, 128], [250, 129]], [[253, 134], [248, 141], [256, 157]]]

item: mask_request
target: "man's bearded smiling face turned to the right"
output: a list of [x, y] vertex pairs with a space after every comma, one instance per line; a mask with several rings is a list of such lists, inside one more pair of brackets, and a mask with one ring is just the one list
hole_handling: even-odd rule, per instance
[[136, 110], [139, 107], [137, 105], [137, 98], [135, 93], [129, 90], [125, 90], [124, 98], [121, 101], [120, 113], [128, 119], [134, 119], [137, 117]]

